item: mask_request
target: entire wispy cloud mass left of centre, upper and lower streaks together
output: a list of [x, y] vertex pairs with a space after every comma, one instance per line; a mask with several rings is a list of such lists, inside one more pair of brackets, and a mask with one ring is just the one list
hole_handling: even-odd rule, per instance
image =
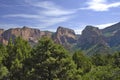
[[25, 0], [24, 4], [27, 4], [29, 7], [34, 8], [34, 10], [36, 10], [36, 14], [7, 14], [3, 17], [26, 18], [28, 20], [34, 19], [39, 22], [42, 27], [44, 26], [44, 28], [46, 28], [61, 22], [68, 21], [73, 17], [73, 14], [76, 13], [76, 10], [64, 9], [63, 7], [55, 4], [52, 1]]

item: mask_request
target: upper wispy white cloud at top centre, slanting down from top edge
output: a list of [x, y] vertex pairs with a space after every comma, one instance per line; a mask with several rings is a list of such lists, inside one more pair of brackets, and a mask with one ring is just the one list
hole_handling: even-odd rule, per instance
[[26, 3], [28, 3], [31, 6], [44, 9], [39, 13], [44, 14], [46, 16], [64, 16], [64, 15], [70, 15], [76, 12], [76, 10], [63, 9], [61, 6], [56, 5], [52, 1], [35, 2], [32, 0], [29, 0], [29, 1], [26, 0]]

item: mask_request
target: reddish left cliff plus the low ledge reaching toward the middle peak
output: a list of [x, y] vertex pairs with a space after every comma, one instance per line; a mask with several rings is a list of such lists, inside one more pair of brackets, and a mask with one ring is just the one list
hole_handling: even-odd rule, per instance
[[[12, 29], [8, 29], [6, 31], [4, 31], [1, 34], [1, 40], [4, 41], [9, 41], [10, 38], [12, 38], [13, 40], [16, 37], [22, 37], [24, 40], [27, 40], [28, 42], [30, 42], [31, 44], [35, 44], [38, 42], [38, 40], [43, 37], [43, 36], [51, 36], [52, 33], [51, 32], [44, 32], [44, 31], [40, 31], [38, 29], [33, 29], [33, 28], [28, 28], [26, 26], [24, 26], [23, 28], [12, 28]], [[1, 43], [3, 43], [1, 41]], [[7, 44], [7, 43], [5, 43]]]

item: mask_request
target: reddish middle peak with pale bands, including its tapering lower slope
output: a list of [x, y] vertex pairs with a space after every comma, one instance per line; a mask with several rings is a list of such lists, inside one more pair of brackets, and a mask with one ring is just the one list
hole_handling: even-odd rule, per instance
[[72, 50], [73, 46], [76, 44], [77, 36], [72, 29], [58, 27], [53, 35], [53, 40], [63, 45], [66, 49]]

